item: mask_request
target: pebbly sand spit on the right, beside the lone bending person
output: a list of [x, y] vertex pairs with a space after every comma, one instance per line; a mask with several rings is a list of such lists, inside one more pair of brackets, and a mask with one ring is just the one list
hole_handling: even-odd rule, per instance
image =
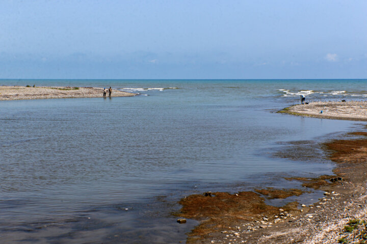
[[367, 121], [367, 101], [312, 102], [284, 108], [279, 112], [317, 118]]

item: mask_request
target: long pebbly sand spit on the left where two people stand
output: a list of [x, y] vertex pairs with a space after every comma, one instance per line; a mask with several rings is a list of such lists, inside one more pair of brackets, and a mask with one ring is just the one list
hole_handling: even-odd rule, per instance
[[[112, 90], [111, 97], [131, 97], [135, 93]], [[27, 100], [47, 98], [102, 98], [101, 87], [62, 87], [62, 86], [0, 86], [0, 100]], [[107, 93], [108, 97], [108, 93]]]

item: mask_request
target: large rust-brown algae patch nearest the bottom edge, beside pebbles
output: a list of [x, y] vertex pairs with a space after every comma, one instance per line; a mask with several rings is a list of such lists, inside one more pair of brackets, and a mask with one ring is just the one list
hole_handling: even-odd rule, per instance
[[[187, 243], [195, 243], [209, 237], [210, 233], [226, 231], [228, 227], [243, 225], [253, 221], [274, 221], [280, 210], [298, 215], [298, 202], [291, 202], [282, 207], [265, 203], [265, 199], [255, 192], [229, 194], [215, 192], [212, 196], [195, 194], [182, 198], [180, 212], [176, 215], [195, 219], [201, 223], [189, 233]], [[266, 216], [263, 218], [263, 216]], [[267, 220], [266, 222], [264, 220]]]

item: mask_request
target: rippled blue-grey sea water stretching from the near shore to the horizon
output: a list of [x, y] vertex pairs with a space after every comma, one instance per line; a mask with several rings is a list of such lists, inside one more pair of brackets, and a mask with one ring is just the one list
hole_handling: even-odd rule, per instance
[[[181, 198], [301, 188], [333, 174], [320, 143], [365, 122], [277, 113], [360, 101], [367, 80], [2, 79], [110, 87], [134, 97], [0, 101], [1, 243], [185, 243]], [[327, 111], [326, 111], [327, 112]], [[322, 193], [284, 200], [312, 202]]]

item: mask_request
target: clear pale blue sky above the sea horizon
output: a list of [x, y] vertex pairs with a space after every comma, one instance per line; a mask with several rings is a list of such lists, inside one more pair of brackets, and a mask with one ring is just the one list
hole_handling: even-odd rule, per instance
[[367, 1], [0, 0], [0, 78], [367, 78]]

